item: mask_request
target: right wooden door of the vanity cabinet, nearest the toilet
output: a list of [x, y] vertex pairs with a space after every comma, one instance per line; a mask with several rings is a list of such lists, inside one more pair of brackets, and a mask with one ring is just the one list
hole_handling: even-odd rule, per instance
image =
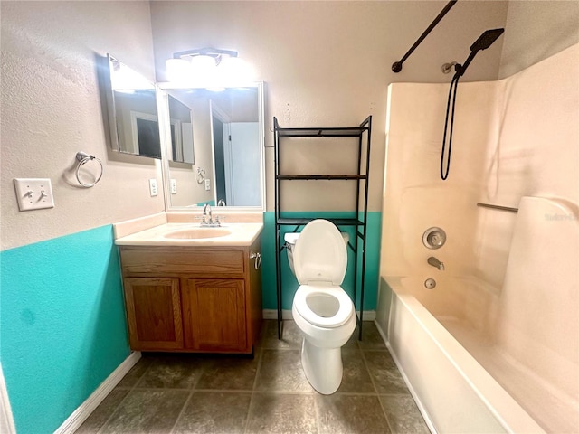
[[242, 279], [189, 278], [181, 294], [186, 348], [247, 350]]

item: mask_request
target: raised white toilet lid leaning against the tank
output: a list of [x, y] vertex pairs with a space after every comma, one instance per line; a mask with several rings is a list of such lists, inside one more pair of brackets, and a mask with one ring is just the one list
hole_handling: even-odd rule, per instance
[[334, 223], [321, 219], [309, 222], [296, 241], [293, 264], [300, 285], [341, 285], [346, 276], [347, 250]]

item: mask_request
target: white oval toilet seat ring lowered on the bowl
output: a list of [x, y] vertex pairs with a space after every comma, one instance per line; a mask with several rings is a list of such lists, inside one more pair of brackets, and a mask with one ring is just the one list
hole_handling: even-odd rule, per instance
[[[337, 313], [334, 316], [318, 316], [308, 306], [308, 297], [315, 295], [335, 297], [338, 303]], [[335, 328], [346, 324], [354, 313], [354, 306], [346, 291], [340, 287], [318, 287], [302, 285], [293, 298], [293, 303], [300, 316], [311, 325], [318, 327]]]

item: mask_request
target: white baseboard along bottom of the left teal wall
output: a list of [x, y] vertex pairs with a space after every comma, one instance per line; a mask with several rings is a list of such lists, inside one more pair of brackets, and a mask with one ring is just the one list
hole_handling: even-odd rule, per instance
[[79, 429], [82, 423], [90, 416], [90, 413], [92, 413], [92, 411], [99, 406], [100, 402], [119, 384], [123, 377], [127, 375], [128, 371], [130, 371], [130, 368], [132, 368], [140, 358], [141, 354], [138, 351], [131, 353], [123, 363], [120, 363], [119, 367], [110, 373], [107, 379], [90, 394], [86, 401], [82, 402], [76, 410], [72, 411], [71, 416], [62, 422], [62, 425], [54, 431], [54, 434], [73, 434], [74, 431]]

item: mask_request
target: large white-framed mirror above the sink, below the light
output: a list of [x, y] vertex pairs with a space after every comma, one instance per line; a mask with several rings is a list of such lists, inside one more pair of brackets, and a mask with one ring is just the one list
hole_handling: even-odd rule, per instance
[[[171, 130], [166, 133], [168, 158], [164, 162], [167, 210], [185, 211], [209, 203], [224, 205], [223, 210], [263, 211], [263, 84], [223, 91], [175, 89], [172, 83], [160, 83], [159, 88], [164, 93], [159, 109], [167, 113], [161, 118]], [[178, 154], [174, 142], [178, 143], [179, 128], [171, 109], [177, 103], [183, 111], [183, 107], [189, 110], [195, 143], [195, 148], [191, 146], [194, 161], [186, 165], [171, 158], [175, 147]]]

